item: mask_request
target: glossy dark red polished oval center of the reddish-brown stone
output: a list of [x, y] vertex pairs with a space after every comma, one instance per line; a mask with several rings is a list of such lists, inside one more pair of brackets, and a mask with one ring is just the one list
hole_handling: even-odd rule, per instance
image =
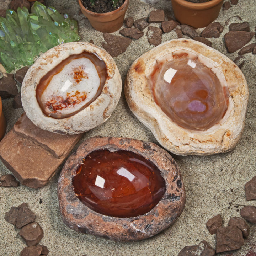
[[113, 217], [135, 217], [163, 197], [164, 178], [152, 162], [130, 151], [92, 151], [72, 180], [78, 198], [92, 210]]

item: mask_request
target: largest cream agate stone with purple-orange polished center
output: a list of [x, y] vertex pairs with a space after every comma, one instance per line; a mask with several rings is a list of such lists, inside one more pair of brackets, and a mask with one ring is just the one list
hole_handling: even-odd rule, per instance
[[143, 54], [128, 71], [125, 94], [134, 115], [177, 155], [230, 151], [241, 138], [245, 77], [203, 43], [174, 39]]

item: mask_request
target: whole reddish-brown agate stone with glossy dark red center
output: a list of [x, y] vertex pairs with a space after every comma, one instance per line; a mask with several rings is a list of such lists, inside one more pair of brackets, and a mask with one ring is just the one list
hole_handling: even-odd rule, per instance
[[164, 149], [129, 138], [94, 137], [66, 161], [58, 198], [69, 228], [136, 241], [173, 224], [186, 195], [180, 170]]

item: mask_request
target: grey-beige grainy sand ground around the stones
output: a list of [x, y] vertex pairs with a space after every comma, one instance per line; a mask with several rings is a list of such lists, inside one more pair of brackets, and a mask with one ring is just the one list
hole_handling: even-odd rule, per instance
[[[92, 29], [89, 21], [82, 14], [78, 14], [79, 6], [75, 0], [48, 0], [46, 2], [48, 5], [57, 7], [60, 12], [66, 12], [70, 17], [78, 20], [81, 40], [90, 41], [93, 39], [97, 46], [101, 46], [103, 34]], [[8, 3], [9, 0], [0, 0], [0, 9], [5, 8]], [[152, 6], [139, 0], [130, 0], [126, 16], [133, 16], [135, 19], [142, 18], [154, 8], [162, 8], [166, 13], [172, 15], [170, 1], [161, 0]], [[235, 15], [241, 16], [242, 21], [248, 21], [251, 31], [254, 31], [255, 13], [254, 0], [239, 0], [237, 6], [232, 6], [226, 11], [221, 10], [217, 21], [224, 26], [222, 36], [228, 32], [225, 21]], [[231, 22], [240, 21], [233, 18]], [[159, 26], [159, 24], [155, 24], [155, 26]], [[201, 30], [199, 29], [198, 32]], [[172, 31], [163, 35], [162, 42], [174, 38], [177, 36]], [[222, 37], [211, 39], [211, 41], [213, 48], [227, 55], [230, 59], [237, 56], [237, 53], [227, 53]], [[255, 38], [250, 43], [253, 42], [256, 42]], [[146, 35], [144, 35], [139, 40], [133, 41], [125, 53], [114, 58], [123, 82], [133, 61], [151, 48], [153, 46], [149, 45]], [[173, 155], [182, 171], [187, 193], [185, 210], [173, 226], [151, 239], [132, 243], [118, 243], [92, 235], [76, 233], [66, 227], [60, 218], [57, 198], [58, 172], [41, 189], [34, 190], [25, 186], [18, 188], [0, 187], [0, 255], [18, 256], [25, 247], [25, 243], [18, 235], [18, 230], [4, 220], [5, 212], [11, 206], [18, 206], [22, 202], [27, 203], [29, 208], [36, 213], [36, 220], [44, 230], [41, 243], [48, 247], [49, 256], [176, 256], [184, 246], [198, 244], [201, 240], [206, 240], [215, 247], [215, 235], [210, 235], [205, 228], [207, 220], [214, 215], [221, 214], [224, 225], [226, 225], [230, 217], [239, 216], [239, 209], [244, 205], [256, 206], [256, 201], [246, 202], [244, 192], [245, 183], [256, 175], [256, 55], [250, 53], [244, 56], [245, 65], [242, 72], [248, 82], [250, 98], [242, 139], [236, 149], [226, 154], [213, 156]], [[3, 100], [3, 109], [9, 131], [22, 110], [12, 108], [12, 99]], [[157, 143], [153, 134], [130, 112], [123, 93], [111, 118], [102, 126], [87, 132], [82, 141], [95, 135], [130, 137]], [[0, 163], [0, 175], [9, 173], [10, 171]], [[40, 199], [42, 199], [42, 204], [39, 204]], [[251, 225], [249, 238], [245, 240], [242, 249], [236, 251], [234, 255], [245, 256], [253, 247], [256, 250], [255, 246], [256, 225]]]

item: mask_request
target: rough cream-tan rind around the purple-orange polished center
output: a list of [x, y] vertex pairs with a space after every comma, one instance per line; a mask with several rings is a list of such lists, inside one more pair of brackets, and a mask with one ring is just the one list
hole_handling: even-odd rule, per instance
[[[220, 118], [210, 127], [206, 126], [206, 129], [194, 127], [190, 129], [186, 122], [180, 123], [179, 113], [175, 113], [176, 119], [172, 118], [168, 110], [161, 106], [165, 91], [158, 97], [156, 103], [155, 89], [152, 89], [154, 83], [152, 85], [150, 81], [154, 77], [152, 74], [154, 72], [161, 74], [159, 63], [172, 61], [176, 55], [183, 53], [206, 66], [211, 74], [217, 76], [220, 87], [218, 90], [227, 92], [226, 108], [220, 113]], [[174, 71], [170, 68], [161, 75], [160, 79], [166, 80], [164, 83], [154, 80], [156, 81], [154, 88], [159, 87], [158, 82], [160, 86], [166, 86], [166, 83], [167, 86], [169, 85], [168, 83], [175, 78], [176, 72], [175, 70], [170, 75], [170, 70]], [[189, 81], [188, 76], [188, 83]], [[174, 91], [173, 89], [166, 91], [170, 99]], [[127, 74], [125, 95], [134, 115], [151, 130], [164, 148], [177, 155], [211, 155], [232, 150], [239, 142], [244, 129], [249, 96], [245, 77], [236, 64], [217, 50], [191, 39], [174, 39], [162, 43], [135, 60]], [[215, 107], [214, 112], [218, 109]]]

